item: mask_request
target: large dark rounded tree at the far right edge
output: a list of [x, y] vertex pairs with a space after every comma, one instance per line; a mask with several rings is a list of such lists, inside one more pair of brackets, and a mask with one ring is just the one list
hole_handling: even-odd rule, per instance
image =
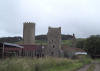
[[86, 39], [85, 41], [85, 50], [91, 56], [100, 55], [100, 35], [93, 35]]

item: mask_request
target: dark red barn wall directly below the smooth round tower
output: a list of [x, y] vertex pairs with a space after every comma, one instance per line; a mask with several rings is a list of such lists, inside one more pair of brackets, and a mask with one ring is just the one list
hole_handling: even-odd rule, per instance
[[23, 46], [22, 56], [43, 57], [43, 49], [40, 45], [21, 45]]

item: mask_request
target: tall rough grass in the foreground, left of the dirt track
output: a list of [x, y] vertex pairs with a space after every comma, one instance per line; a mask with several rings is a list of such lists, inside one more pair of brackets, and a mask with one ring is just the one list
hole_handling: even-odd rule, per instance
[[16, 57], [0, 60], [0, 71], [74, 71], [89, 62], [89, 59]]

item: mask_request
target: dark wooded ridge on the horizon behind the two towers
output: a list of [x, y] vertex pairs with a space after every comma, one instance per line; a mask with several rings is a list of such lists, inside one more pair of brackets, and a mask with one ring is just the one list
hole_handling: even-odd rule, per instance
[[[62, 40], [71, 40], [73, 39], [72, 35], [61, 35]], [[42, 40], [42, 41], [47, 41], [47, 35], [37, 35], [35, 36], [36, 40]], [[18, 42], [23, 40], [22, 37], [20, 36], [16, 36], [16, 37], [2, 37], [0, 38], [0, 42], [9, 42], [9, 43], [13, 43], [13, 42]]]

